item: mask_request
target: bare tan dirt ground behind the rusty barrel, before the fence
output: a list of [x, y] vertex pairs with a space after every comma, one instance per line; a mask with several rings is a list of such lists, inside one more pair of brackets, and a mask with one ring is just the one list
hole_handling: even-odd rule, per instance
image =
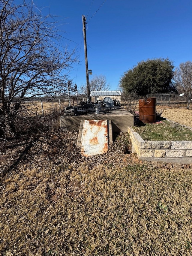
[[192, 127], [192, 110], [173, 108], [167, 106], [156, 106], [156, 111], [161, 112], [161, 116], [181, 125]]

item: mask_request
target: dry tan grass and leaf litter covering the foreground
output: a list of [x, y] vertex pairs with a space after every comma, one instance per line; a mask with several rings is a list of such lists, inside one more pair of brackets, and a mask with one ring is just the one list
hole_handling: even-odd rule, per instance
[[47, 135], [1, 152], [1, 255], [192, 255], [191, 165], [140, 163], [126, 134], [100, 158]]

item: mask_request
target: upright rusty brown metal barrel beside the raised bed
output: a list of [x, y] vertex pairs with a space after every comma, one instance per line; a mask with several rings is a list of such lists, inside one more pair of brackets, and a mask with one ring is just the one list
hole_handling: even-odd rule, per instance
[[156, 98], [145, 98], [139, 100], [139, 119], [143, 123], [155, 123]]

